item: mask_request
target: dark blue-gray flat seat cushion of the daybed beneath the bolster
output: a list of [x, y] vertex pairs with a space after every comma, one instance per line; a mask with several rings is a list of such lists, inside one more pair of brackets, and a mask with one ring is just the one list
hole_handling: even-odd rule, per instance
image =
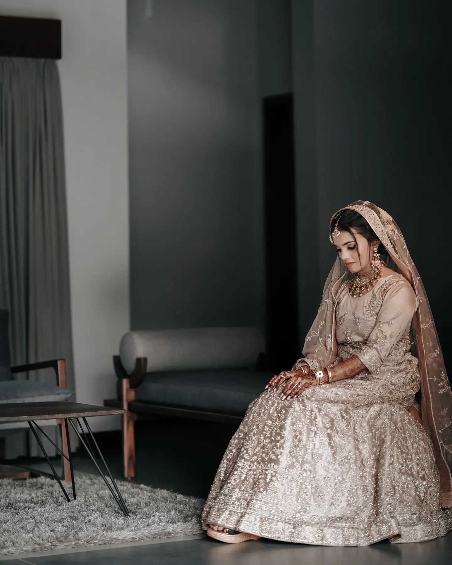
[[[244, 415], [274, 373], [217, 369], [147, 373], [135, 390], [137, 402]], [[120, 381], [117, 385], [120, 398]]]

